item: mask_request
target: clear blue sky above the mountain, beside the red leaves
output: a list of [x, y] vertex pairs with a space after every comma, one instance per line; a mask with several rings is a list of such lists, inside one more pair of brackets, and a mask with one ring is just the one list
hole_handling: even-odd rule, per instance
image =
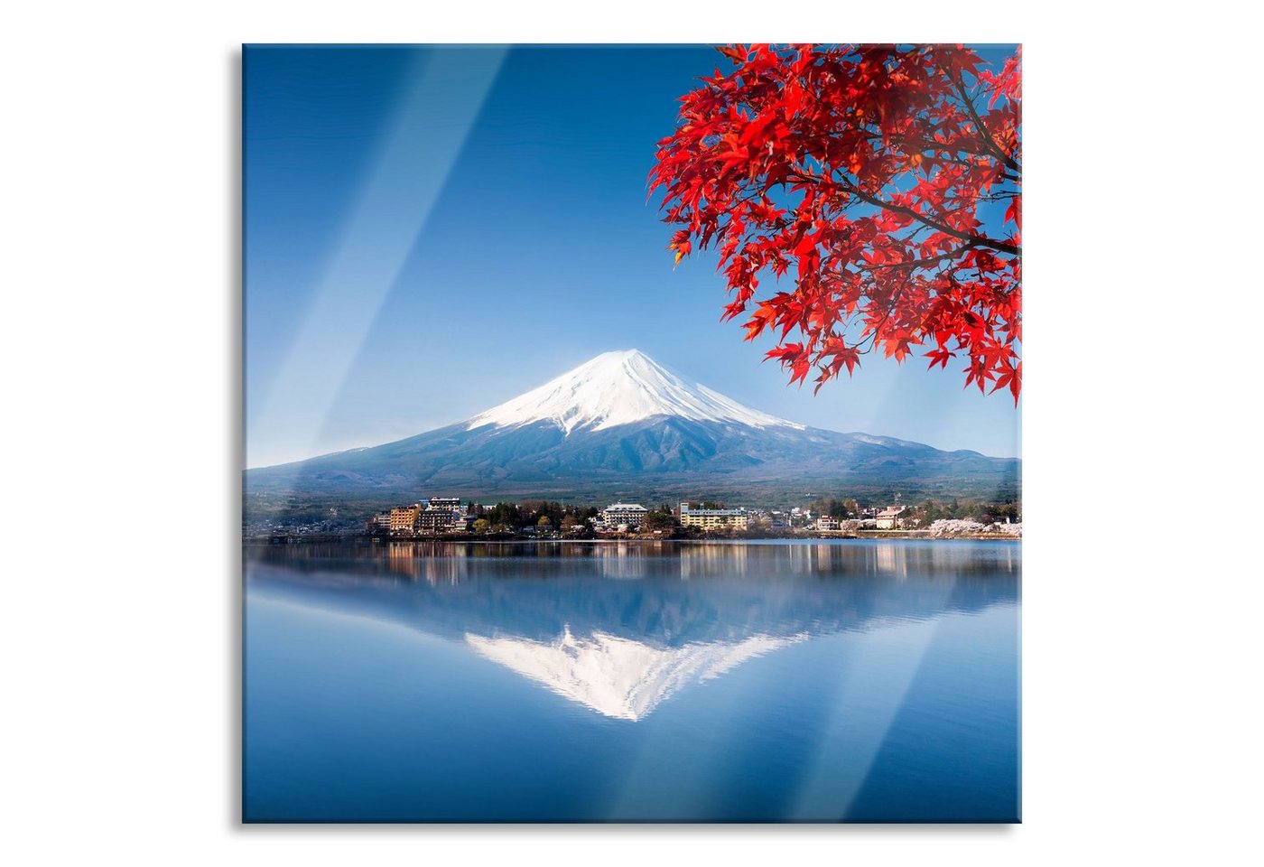
[[[990, 52], [1001, 56], [1004, 52]], [[713, 254], [675, 270], [646, 201], [709, 47], [248, 47], [246, 465], [466, 418], [637, 348], [757, 409], [1019, 454], [1020, 413], [865, 356], [789, 387], [720, 324]]]

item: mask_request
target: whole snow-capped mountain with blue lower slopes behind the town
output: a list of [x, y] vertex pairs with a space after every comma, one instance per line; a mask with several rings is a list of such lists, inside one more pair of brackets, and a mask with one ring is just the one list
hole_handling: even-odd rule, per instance
[[455, 425], [248, 470], [246, 494], [517, 495], [661, 502], [760, 487], [1012, 495], [1019, 461], [841, 434], [742, 406], [637, 350], [604, 353]]

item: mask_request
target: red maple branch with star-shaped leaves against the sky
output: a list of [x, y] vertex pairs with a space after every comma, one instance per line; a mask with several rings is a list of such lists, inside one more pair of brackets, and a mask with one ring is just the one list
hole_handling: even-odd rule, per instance
[[[1023, 382], [1021, 54], [962, 45], [732, 45], [681, 97], [651, 195], [683, 226], [676, 263], [715, 244], [746, 339], [817, 389], [875, 348], [966, 385]], [[760, 276], [794, 289], [757, 297]], [[790, 341], [791, 332], [796, 337]]]

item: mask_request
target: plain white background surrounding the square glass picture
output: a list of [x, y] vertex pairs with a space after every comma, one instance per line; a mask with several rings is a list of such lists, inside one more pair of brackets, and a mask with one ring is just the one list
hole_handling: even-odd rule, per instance
[[[10, 863], [1259, 857], [1258, 28], [1217, 3], [685, 6], [6, 9]], [[756, 37], [1025, 44], [1024, 824], [241, 828], [238, 45]]]

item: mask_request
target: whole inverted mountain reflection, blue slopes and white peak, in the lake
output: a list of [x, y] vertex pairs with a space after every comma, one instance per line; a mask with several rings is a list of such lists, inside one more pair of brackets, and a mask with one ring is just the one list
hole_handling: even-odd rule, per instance
[[425, 543], [248, 551], [252, 594], [394, 623], [609, 718], [782, 647], [1018, 600], [1019, 549]]

